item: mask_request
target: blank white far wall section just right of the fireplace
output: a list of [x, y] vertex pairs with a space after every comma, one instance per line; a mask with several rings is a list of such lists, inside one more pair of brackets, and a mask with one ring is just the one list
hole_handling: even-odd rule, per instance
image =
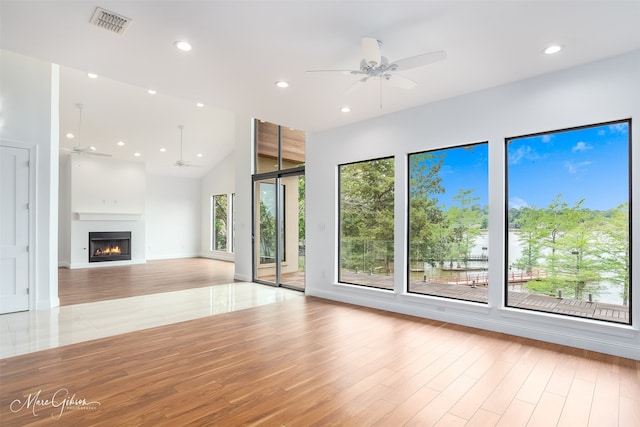
[[147, 259], [199, 256], [200, 194], [198, 179], [147, 175]]

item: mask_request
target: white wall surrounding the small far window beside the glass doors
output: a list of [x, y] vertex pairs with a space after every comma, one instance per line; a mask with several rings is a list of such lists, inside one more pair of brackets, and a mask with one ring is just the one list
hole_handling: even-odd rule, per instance
[[[236, 144], [237, 145], [237, 144]], [[218, 163], [209, 174], [202, 179], [202, 192], [200, 202], [200, 255], [206, 258], [233, 261], [235, 256], [230, 252], [211, 250], [211, 196], [218, 194], [235, 193], [236, 188], [236, 163], [235, 152], [231, 152], [220, 163]]]

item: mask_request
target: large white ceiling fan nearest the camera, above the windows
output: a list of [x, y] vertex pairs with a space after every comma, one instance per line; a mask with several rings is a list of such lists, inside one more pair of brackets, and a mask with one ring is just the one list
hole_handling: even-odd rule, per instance
[[360, 83], [366, 83], [369, 80], [378, 79], [380, 81], [380, 108], [382, 108], [383, 81], [389, 81], [392, 86], [401, 89], [413, 89], [418, 85], [418, 83], [397, 74], [398, 71], [406, 71], [413, 68], [423, 67], [425, 65], [433, 64], [434, 62], [442, 61], [447, 57], [447, 53], [445, 51], [439, 50], [390, 62], [385, 56], [382, 56], [380, 51], [381, 45], [382, 42], [374, 37], [362, 38], [363, 58], [360, 61], [360, 68], [357, 70], [309, 70], [307, 72], [320, 73], [338, 71], [357, 76], [364, 76], [360, 77], [347, 92], [359, 86]]

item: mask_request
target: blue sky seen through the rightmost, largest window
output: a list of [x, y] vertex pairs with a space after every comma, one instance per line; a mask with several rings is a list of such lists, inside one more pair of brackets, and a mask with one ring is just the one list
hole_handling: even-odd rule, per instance
[[607, 210], [629, 197], [626, 123], [528, 138], [507, 146], [509, 207], [546, 207], [558, 195], [573, 206]]

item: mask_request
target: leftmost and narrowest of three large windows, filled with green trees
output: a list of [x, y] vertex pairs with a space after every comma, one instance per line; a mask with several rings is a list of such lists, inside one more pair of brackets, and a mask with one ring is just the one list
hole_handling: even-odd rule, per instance
[[340, 165], [343, 283], [393, 289], [393, 158]]

